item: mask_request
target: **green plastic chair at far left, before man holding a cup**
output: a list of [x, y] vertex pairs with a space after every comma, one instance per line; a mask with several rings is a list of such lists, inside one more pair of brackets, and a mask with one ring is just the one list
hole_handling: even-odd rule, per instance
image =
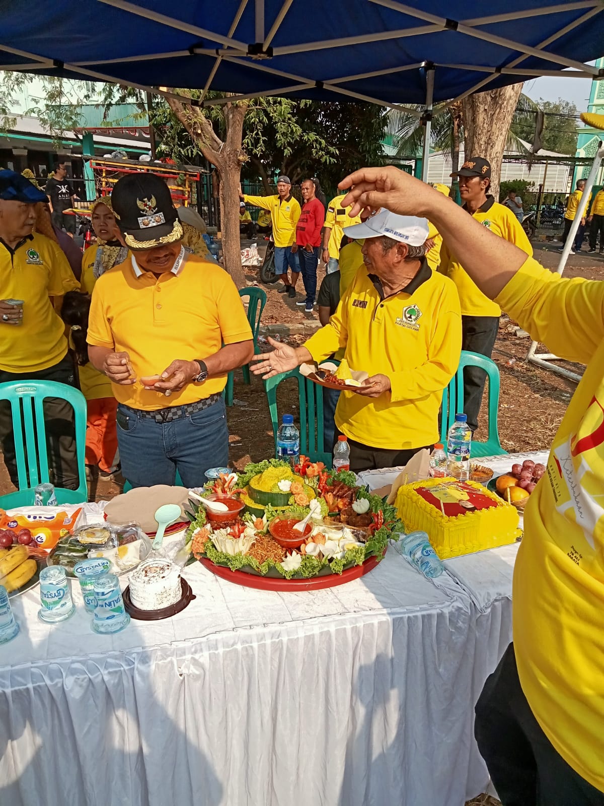
[[[9, 401], [13, 418], [14, 447], [17, 458], [19, 490], [0, 496], [0, 507], [31, 506], [34, 503], [34, 488], [48, 482], [48, 455], [46, 450], [46, 426], [42, 404], [47, 397], [59, 397], [73, 409], [76, 427], [77, 473], [80, 486], [77, 490], [56, 487], [59, 504], [81, 504], [88, 501], [86, 485], [86, 398], [79, 389], [53, 380], [24, 380], [0, 384], [0, 400]], [[25, 426], [25, 439], [23, 439]]]

